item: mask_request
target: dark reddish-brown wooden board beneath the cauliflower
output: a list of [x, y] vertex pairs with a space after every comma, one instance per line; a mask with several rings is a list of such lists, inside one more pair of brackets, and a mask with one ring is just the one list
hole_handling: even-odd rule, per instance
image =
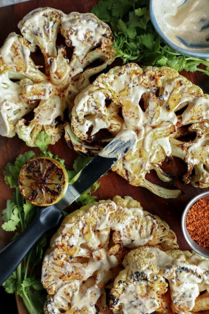
[[[89, 12], [95, 3], [97, 3], [97, 0], [33, 0], [0, 8], [0, 46], [3, 45], [4, 40], [10, 32], [15, 31], [19, 33], [18, 22], [35, 8], [50, 6], [60, 9], [66, 14], [72, 11], [83, 13]], [[190, 79], [194, 84], [199, 85], [205, 93], [209, 93], [209, 83], [206, 75], [198, 72], [187, 73], [185, 71], [182, 71], [181, 74]], [[3, 181], [3, 170], [8, 162], [12, 162], [18, 154], [29, 149], [17, 136], [14, 138], [0, 136], [0, 210], [5, 208], [7, 199], [12, 196], [12, 191]], [[38, 153], [38, 149], [33, 150]], [[64, 138], [61, 138], [55, 145], [51, 145], [50, 151], [54, 155], [58, 154], [60, 158], [64, 158], [68, 169], [72, 168], [73, 160], [77, 154], [67, 146]], [[182, 183], [181, 177], [186, 172], [186, 166], [182, 160], [175, 158], [169, 164], [166, 164], [165, 167], [168, 172], [176, 175], [175, 186], [181, 188], [184, 193], [179, 198], [160, 198], [145, 188], [129, 185], [127, 181], [113, 172], [100, 179], [101, 186], [97, 190], [96, 195], [98, 199], [112, 198], [115, 195], [122, 197], [129, 195], [133, 197], [141, 203], [144, 209], [152, 214], [157, 214], [170, 225], [170, 228], [176, 232], [180, 249], [189, 249], [181, 233], [181, 214], [185, 204], [192, 197], [209, 189], [194, 188], [191, 185], [184, 185]], [[159, 179], [153, 172], [149, 174], [149, 180], [154, 183], [159, 182]], [[75, 206], [72, 205], [69, 211], [74, 209]], [[11, 237], [12, 234], [8, 235], [8, 232], [4, 234], [3, 230], [0, 229], [0, 246], [10, 241]], [[17, 297], [17, 305], [19, 314], [28, 314], [19, 297]]]

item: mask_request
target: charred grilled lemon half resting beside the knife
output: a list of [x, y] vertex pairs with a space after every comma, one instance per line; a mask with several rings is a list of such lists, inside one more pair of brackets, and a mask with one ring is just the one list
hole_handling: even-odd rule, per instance
[[57, 160], [37, 157], [29, 160], [20, 170], [20, 192], [37, 206], [52, 205], [60, 201], [68, 187], [68, 174]]

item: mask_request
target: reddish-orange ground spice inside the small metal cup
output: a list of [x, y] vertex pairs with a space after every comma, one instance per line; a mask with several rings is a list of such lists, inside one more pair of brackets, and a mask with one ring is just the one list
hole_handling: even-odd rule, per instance
[[186, 228], [191, 238], [202, 247], [209, 247], [209, 197], [199, 199], [189, 209]]

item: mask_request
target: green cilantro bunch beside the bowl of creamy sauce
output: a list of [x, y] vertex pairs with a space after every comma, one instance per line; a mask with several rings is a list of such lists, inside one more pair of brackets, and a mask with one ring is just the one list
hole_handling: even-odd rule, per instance
[[[144, 66], [168, 66], [209, 75], [209, 60], [183, 56], [159, 37], [150, 21], [149, 0], [99, 1], [91, 12], [110, 24], [115, 36], [115, 57], [124, 63], [135, 61]], [[198, 68], [200, 64], [206, 69]]]

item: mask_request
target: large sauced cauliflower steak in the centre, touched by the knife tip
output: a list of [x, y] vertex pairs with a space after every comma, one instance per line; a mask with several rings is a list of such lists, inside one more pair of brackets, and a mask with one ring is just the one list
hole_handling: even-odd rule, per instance
[[[208, 187], [208, 125], [209, 95], [204, 95], [198, 86], [174, 69], [142, 70], [130, 63], [99, 75], [76, 97], [71, 128], [65, 128], [65, 138], [77, 151], [97, 154], [122, 129], [135, 131], [137, 145], [112, 170], [134, 186], [146, 187], [164, 198], [175, 198], [180, 190], [160, 187], [145, 176], [154, 169], [161, 180], [172, 181], [161, 164], [166, 158], [177, 156], [188, 167], [185, 183]], [[102, 138], [102, 129], [109, 131], [109, 138]], [[196, 133], [195, 140], [179, 140], [192, 133]]]

